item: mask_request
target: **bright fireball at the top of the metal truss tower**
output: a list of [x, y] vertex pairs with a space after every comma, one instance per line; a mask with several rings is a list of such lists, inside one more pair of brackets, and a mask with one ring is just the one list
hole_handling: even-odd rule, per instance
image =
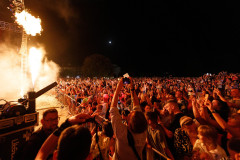
[[16, 13], [15, 17], [16, 22], [23, 26], [28, 35], [36, 36], [36, 34], [41, 33], [42, 27], [40, 18], [35, 18], [25, 10], [23, 10], [21, 13]]

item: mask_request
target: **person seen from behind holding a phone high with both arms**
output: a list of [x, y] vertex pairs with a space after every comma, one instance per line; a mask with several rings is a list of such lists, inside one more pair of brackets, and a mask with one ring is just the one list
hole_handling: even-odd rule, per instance
[[134, 92], [134, 85], [130, 79], [131, 97], [133, 99], [133, 111], [128, 116], [128, 125], [122, 123], [117, 103], [118, 95], [123, 88], [123, 78], [119, 81], [115, 90], [110, 108], [111, 122], [116, 136], [116, 149], [113, 159], [142, 159], [142, 151], [147, 137], [147, 121], [141, 112], [139, 100]]

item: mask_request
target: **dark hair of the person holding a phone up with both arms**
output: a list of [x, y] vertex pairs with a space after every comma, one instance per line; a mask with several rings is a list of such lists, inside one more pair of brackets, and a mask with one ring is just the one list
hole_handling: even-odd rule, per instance
[[147, 130], [147, 120], [140, 111], [132, 111], [128, 116], [128, 125], [133, 133], [142, 133]]

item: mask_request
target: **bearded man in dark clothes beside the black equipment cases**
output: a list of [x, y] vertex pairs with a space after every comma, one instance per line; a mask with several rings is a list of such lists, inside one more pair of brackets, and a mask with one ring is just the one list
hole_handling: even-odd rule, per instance
[[20, 153], [20, 159], [33, 160], [36, 157], [47, 137], [58, 128], [58, 120], [58, 111], [56, 109], [48, 109], [43, 112], [43, 118], [41, 119], [42, 127], [33, 132], [30, 139], [26, 142]]

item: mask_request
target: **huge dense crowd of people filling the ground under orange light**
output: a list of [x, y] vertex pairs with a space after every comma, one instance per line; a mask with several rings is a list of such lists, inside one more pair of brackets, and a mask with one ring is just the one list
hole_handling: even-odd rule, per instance
[[59, 79], [74, 115], [60, 127], [43, 116], [54, 125], [36, 159], [239, 160], [239, 78]]

